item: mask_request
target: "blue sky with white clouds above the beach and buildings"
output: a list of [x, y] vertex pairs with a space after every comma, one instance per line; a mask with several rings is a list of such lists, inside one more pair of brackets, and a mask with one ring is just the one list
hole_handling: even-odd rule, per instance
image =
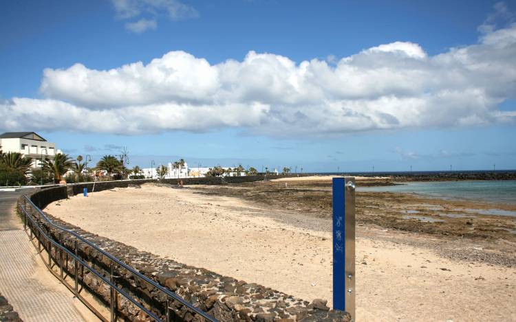
[[1, 1], [0, 131], [94, 159], [127, 146], [144, 167], [515, 169], [515, 10]]

